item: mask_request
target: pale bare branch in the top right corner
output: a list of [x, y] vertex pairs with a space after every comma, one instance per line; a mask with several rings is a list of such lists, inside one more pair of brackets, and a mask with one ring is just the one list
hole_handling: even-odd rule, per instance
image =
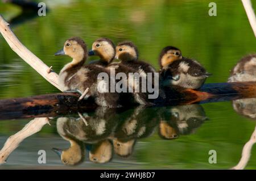
[[253, 6], [251, 5], [250, 0], [242, 0], [243, 7], [245, 8], [247, 17], [249, 19], [249, 22], [251, 24], [251, 28], [253, 28], [254, 35], [256, 37], [256, 17], [253, 11]]

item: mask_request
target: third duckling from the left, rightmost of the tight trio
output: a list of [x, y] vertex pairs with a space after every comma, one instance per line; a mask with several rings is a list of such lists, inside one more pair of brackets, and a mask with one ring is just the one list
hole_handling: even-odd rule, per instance
[[[138, 49], [131, 41], [124, 41], [119, 43], [115, 50], [115, 57], [121, 61], [119, 65], [129, 68], [130, 73], [138, 73], [139, 77], [141, 77], [142, 79], [145, 79], [146, 81], [151, 81], [150, 83], [152, 84], [152, 87], [154, 87], [154, 81], [152, 80], [154, 80], [155, 69], [150, 64], [138, 60]], [[148, 78], [147, 73], [152, 74], [152, 80]], [[134, 81], [134, 77], [132, 77], [128, 79], [128, 82], [129, 86], [131, 86], [131, 88], [135, 90], [133, 91], [133, 95], [137, 103], [144, 105], [154, 104], [154, 100], [148, 99], [148, 91], [146, 90], [147, 85], [142, 84], [143, 80], [139, 82]], [[143, 89], [146, 90], [146, 92], [143, 92]]]

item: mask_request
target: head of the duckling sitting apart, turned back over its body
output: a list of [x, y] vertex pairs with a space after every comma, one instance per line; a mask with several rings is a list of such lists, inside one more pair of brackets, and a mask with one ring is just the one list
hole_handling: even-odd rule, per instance
[[160, 68], [167, 68], [172, 62], [180, 60], [182, 58], [180, 49], [176, 47], [165, 47], [159, 56], [159, 65]]

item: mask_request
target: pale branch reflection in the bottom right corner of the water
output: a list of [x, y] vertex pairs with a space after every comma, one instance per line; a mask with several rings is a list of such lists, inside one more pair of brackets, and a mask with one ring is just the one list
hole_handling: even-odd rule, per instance
[[245, 146], [243, 146], [242, 157], [240, 159], [240, 162], [236, 166], [234, 166], [232, 169], [242, 170], [246, 167], [251, 156], [251, 148], [253, 147], [255, 142], [256, 142], [256, 127], [253, 134], [251, 134], [250, 140], [246, 142]]

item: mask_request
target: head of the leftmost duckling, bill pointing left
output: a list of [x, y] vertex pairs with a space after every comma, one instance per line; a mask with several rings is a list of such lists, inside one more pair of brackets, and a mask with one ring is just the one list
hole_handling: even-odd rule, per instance
[[63, 49], [59, 50], [54, 55], [67, 55], [73, 58], [73, 62], [81, 62], [86, 60], [88, 52], [84, 40], [80, 37], [72, 37], [65, 41]]

